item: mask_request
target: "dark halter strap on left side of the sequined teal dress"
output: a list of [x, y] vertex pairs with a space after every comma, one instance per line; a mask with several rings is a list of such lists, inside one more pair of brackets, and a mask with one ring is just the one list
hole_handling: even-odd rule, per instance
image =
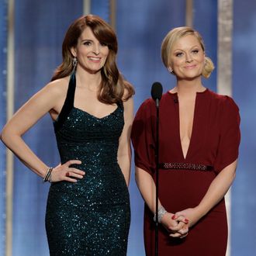
[[71, 109], [74, 107], [74, 92], [76, 86], [76, 79], [75, 79], [75, 70], [71, 73], [71, 77], [69, 78], [68, 88], [67, 88], [67, 96], [64, 102], [64, 106], [61, 109], [59, 116], [57, 117], [56, 122], [54, 123], [54, 130], [61, 129], [67, 116], [71, 112]]

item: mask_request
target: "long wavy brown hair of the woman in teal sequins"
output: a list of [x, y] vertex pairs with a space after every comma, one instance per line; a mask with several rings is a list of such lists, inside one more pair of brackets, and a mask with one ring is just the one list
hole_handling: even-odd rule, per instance
[[98, 94], [99, 101], [106, 104], [113, 104], [130, 99], [134, 94], [133, 86], [123, 78], [116, 66], [118, 49], [116, 33], [107, 22], [95, 15], [81, 16], [67, 29], [62, 43], [63, 61], [54, 71], [51, 81], [67, 77], [71, 74], [74, 58], [71, 54], [71, 48], [77, 46], [78, 38], [87, 26], [92, 29], [92, 33], [99, 42], [105, 43], [109, 47], [109, 55], [101, 70], [102, 82]]

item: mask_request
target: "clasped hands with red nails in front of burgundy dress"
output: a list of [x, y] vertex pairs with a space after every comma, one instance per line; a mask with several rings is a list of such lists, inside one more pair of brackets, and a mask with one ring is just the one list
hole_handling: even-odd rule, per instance
[[189, 232], [189, 220], [185, 216], [175, 216], [173, 213], [165, 213], [161, 224], [170, 233], [170, 237], [186, 237]]

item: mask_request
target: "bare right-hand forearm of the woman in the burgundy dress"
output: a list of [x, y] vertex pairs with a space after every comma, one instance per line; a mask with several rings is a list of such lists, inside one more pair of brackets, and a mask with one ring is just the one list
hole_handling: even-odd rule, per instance
[[192, 227], [192, 225], [200, 220], [202, 216], [205, 216], [213, 206], [216, 206], [216, 204], [223, 199], [228, 189], [230, 189], [230, 185], [234, 181], [236, 168], [237, 160], [220, 171], [216, 178], [214, 178], [206, 195], [204, 195], [198, 206], [195, 208], [184, 209], [177, 213], [188, 216], [189, 227]]

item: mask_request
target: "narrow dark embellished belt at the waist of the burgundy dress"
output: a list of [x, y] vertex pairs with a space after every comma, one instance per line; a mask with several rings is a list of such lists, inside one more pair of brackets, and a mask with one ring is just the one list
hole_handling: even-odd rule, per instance
[[192, 171], [213, 171], [213, 166], [205, 164], [188, 164], [188, 163], [160, 163], [159, 168], [168, 170], [192, 170]]

